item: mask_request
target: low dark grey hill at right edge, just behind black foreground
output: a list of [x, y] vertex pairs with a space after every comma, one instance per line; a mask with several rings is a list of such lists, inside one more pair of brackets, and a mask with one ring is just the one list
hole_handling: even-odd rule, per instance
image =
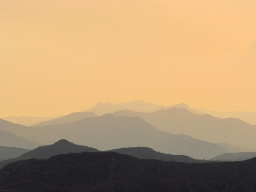
[[256, 157], [256, 152], [225, 153], [218, 155], [211, 160], [243, 161], [254, 157]]

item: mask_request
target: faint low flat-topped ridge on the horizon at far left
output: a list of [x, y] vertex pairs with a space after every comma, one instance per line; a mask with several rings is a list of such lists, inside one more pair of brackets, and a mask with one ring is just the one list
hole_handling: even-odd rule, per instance
[[34, 124], [38, 124], [43, 121], [48, 121], [51, 119], [61, 118], [62, 116], [56, 116], [56, 117], [28, 117], [28, 116], [20, 116], [20, 117], [14, 117], [14, 116], [8, 116], [2, 118], [3, 120], [10, 121], [12, 123], [21, 124], [25, 126], [32, 126]]

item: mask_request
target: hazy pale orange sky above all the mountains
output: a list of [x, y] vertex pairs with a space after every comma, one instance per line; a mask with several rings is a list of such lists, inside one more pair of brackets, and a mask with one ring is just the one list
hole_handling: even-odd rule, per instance
[[256, 111], [255, 0], [0, 0], [0, 117], [98, 102]]

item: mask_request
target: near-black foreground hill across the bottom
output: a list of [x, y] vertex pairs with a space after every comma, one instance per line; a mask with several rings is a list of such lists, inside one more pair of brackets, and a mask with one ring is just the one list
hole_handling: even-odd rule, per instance
[[255, 192], [256, 158], [189, 164], [114, 152], [23, 160], [0, 170], [7, 192]]

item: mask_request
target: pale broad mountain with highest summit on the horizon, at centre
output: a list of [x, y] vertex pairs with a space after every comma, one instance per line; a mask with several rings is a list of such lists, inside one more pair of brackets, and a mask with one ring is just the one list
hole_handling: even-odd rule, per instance
[[116, 111], [124, 110], [124, 109], [129, 109], [129, 110], [139, 111], [139, 112], [151, 112], [152, 110], [156, 110], [159, 107], [160, 106], [157, 104], [144, 102], [141, 100], [128, 102], [128, 103], [118, 103], [118, 104], [112, 104], [110, 102], [106, 102], [106, 103], [99, 102], [93, 108], [90, 108], [85, 111], [91, 111], [97, 114], [98, 116], [101, 116], [103, 114], [114, 113]]

